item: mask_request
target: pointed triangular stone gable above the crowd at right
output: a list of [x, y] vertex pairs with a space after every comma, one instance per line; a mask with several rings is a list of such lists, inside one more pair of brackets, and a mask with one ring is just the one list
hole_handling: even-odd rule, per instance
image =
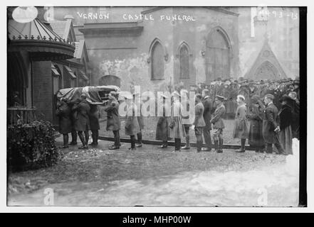
[[[272, 75], [268, 76], [276, 78], [257, 78], [261, 75], [258, 74], [258, 70], [260, 70], [261, 67], [268, 67], [268, 69], [271, 70], [272, 73]], [[244, 77], [249, 79], [280, 79], [287, 77], [276, 55], [273, 53], [273, 50], [271, 50], [271, 46], [268, 44], [267, 38], [265, 39], [263, 47], [261, 48], [258, 57], [256, 57], [256, 60], [253, 63], [251, 69], [246, 72]]]

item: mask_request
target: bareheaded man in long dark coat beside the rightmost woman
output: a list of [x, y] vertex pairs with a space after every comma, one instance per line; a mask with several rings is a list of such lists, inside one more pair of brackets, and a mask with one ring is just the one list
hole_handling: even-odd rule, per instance
[[279, 142], [280, 127], [278, 126], [278, 109], [273, 104], [273, 95], [266, 94], [264, 98], [266, 110], [263, 116], [263, 138], [266, 142], [266, 153], [273, 153], [273, 144], [278, 150], [278, 154], [286, 155]]

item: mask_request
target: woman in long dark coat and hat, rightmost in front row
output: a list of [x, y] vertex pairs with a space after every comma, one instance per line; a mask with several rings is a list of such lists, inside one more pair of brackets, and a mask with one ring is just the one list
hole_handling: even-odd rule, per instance
[[293, 155], [292, 152], [293, 136], [291, 129], [291, 122], [293, 120], [292, 114], [293, 99], [291, 99], [291, 97], [285, 94], [281, 97], [279, 101], [281, 102], [281, 109], [278, 112], [281, 129], [279, 133], [279, 140], [281, 141], [281, 145], [283, 146], [283, 150], [286, 151], [286, 154]]

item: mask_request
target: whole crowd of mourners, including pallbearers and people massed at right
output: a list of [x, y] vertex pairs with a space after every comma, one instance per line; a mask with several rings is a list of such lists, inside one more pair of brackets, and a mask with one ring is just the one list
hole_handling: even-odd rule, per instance
[[[189, 103], [189, 91], [194, 91], [194, 117], [181, 113], [182, 101]], [[127, 114], [125, 116], [125, 135], [130, 135], [130, 150], [142, 147], [143, 116], [135, 116], [135, 96], [119, 96], [110, 92], [108, 101], [103, 104], [107, 112], [107, 131], [112, 131], [115, 138], [110, 150], [119, 149], [120, 115], [119, 105], [125, 101]], [[174, 152], [189, 150], [190, 131], [197, 138], [197, 152], [210, 151], [214, 148], [217, 153], [223, 152], [224, 121], [234, 119], [234, 138], [241, 140], [241, 148], [236, 152], [245, 152], [246, 140], [257, 153], [292, 153], [292, 139], [299, 139], [299, 79], [281, 79], [253, 81], [240, 78], [239, 80], [220, 78], [211, 84], [198, 84], [186, 89], [178, 84], [174, 92], [167, 96], [162, 94], [163, 115], [158, 117], [156, 140], [162, 141], [159, 148], [167, 148], [168, 141], [174, 140]], [[167, 106], [171, 99], [171, 106]], [[171, 116], [166, 110], [171, 109]], [[88, 148], [89, 131], [92, 132], [93, 142], [98, 145], [100, 130], [100, 109], [98, 105], [88, 104], [85, 94], [75, 101], [61, 98], [58, 101], [56, 114], [59, 116], [59, 131], [63, 134], [63, 146], [77, 144], [77, 135], [82, 146]], [[250, 122], [250, 123], [249, 123]], [[68, 143], [68, 133], [72, 142]], [[205, 144], [203, 144], [203, 137]], [[185, 145], [182, 147], [182, 141]], [[276, 150], [273, 150], [275, 145]]]

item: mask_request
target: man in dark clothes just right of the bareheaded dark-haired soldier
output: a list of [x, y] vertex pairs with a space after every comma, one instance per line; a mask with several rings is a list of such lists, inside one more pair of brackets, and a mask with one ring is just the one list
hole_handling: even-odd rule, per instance
[[212, 101], [209, 97], [209, 90], [204, 89], [203, 93], [203, 105], [204, 105], [204, 121], [206, 126], [204, 127], [204, 139], [206, 143], [206, 148], [203, 148], [203, 151], [211, 150], [211, 113], [212, 113]]

